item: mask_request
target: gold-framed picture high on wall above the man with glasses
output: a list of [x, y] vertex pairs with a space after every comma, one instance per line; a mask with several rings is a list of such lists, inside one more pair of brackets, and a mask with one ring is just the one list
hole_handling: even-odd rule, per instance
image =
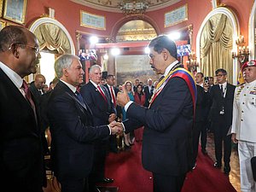
[[3, 5], [3, 18], [16, 23], [24, 24], [27, 0], [5, 0]]

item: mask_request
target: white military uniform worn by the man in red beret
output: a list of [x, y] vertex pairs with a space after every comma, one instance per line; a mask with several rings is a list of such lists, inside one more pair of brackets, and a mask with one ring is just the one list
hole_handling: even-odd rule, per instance
[[250, 160], [256, 156], [256, 80], [236, 87], [231, 133], [236, 133], [241, 191], [256, 192]]

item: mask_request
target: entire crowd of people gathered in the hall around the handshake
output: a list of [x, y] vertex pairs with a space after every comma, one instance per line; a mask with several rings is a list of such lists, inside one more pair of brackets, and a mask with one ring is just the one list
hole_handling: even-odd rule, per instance
[[[42, 192], [44, 155], [62, 192], [98, 192], [108, 152], [143, 143], [143, 167], [153, 173], [154, 192], [181, 191], [187, 172], [196, 168], [199, 139], [207, 155], [207, 131], [213, 132], [212, 165], [230, 173], [231, 142], [238, 143], [241, 191], [256, 191], [249, 161], [256, 156], [256, 61], [241, 70], [245, 84], [227, 82], [223, 68], [215, 77], [194, 76], [177, 61], [176, 44], [162, 35], [149, 48], [149, 64], [161, 78], [147, 85], [139, 79], [119, 87], [115, 76], [102, 79], [102, 67], [90, 67], [84, 84], [79, 56], [55, 60], [56, 78], [45, 84], [37, 72], [38, 40], [21, 26], [0, 32], [0, 170], [6, 191]], [[194, 80], [195, 79], [195, 80]], [[215, 80], [214, 80], [215, 79]], [[215, 81], [215, 82], [214, 82]], [[50, 143], [45, 131], [50, 132]], [[117, 139], [119, 138], [119, 139]], [[123, 138], [123, 142], [119, 142]], [[223, 150], [224, 144], [224, 152]], [[50, 147], [50, 148], [49, 148]]]

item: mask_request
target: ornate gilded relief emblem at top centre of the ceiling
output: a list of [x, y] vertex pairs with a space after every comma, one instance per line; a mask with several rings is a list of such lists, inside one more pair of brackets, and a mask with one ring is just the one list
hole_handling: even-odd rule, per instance
[[148, 9], [148, 1], [145, 0], [123, 0], [119, 3], [119, 8], [124, 15], [143, 15]]

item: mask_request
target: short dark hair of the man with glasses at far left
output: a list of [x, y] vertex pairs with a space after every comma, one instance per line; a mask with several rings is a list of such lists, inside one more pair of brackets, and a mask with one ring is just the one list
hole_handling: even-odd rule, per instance
[[11, 44], [27, 44], [23, 26], [5, 26], [0, 32], [0, 52], [9, 49]]

